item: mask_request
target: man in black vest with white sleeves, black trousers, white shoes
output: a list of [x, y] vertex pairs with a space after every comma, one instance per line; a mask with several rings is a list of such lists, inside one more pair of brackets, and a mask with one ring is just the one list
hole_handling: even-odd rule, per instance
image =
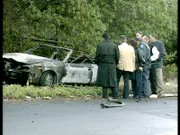
[[150, 74], [149, 74], [150, 88], [151, 88], [150, 97], [153, 97], [153, 96], [157, 96], [155, 62], [157, 58], [159, 57], [159, 51], [157, 50], [157, 47], [154, 46], [154, 44], [150, 41], [150, 39], [147, 36], [143, 36], [142, 39], [144, 42], [146, 42], [149, 45], [149, 48], [150, 48], [150, 60], [151, 60], [151, 68], [150, 68]]

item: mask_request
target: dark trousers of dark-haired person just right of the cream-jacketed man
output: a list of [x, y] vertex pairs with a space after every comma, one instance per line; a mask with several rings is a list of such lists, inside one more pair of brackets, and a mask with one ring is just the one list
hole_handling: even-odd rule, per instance
[[142, 75], [141, 70], [134, 71], [135, 78], [132, 80], [132, 91], [134, 97], [141, 97], [142, 94]]

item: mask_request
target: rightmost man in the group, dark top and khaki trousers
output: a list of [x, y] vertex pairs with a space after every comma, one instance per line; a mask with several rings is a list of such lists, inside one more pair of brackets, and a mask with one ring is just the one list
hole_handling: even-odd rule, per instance
[[163, 58], [166, 55], [166, 49], [162, 41], [157, 40], [156, 34], [150, 34], [150, 41], [157, 47], [159, 51], [159, 57], [155, 62], [155, 72], [156, 72], [156, 83], [157, 83], [157, 92], [158, 97], [163, 97], [164, 90], [163, 90]]

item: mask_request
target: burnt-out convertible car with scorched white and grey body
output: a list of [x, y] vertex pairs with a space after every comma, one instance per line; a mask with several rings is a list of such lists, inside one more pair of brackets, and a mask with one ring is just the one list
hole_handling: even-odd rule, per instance
[[94, 84], [97, 65], [92, 58], [69, 48], [41, 44], [24, 53], [3, 54], [6, 84]]

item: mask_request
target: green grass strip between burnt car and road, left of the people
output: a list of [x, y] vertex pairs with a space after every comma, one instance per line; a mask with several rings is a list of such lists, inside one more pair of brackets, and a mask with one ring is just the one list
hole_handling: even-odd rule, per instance
[[82, 98], [85, 96], [98, 97], [101, 96], [101, 88], [96, 86], [65, 86], [58, 85], [53, 87], [36, 87], [20, 86], [20, 85], [4, 85], [3, 99], [26, 99], [31, 98]]

